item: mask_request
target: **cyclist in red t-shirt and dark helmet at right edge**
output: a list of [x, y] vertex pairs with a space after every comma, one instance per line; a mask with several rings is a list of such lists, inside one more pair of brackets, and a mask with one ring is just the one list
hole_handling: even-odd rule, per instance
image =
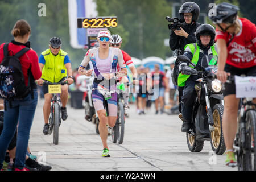
[[[218, 80], [225, 83], [229, 75], [256, 76], [256, 27], [246, 18], [238, 18], [239, 8], [229, 3], [216, 7], [216, 14], [209, 18], [216, 24], [218, 46]], [[236, 98], [236, 85], [225, 83], [224, 115], [222, 128], [227, 149], [226, 165], [236, 166], [233, 142], [237, 130], [239, 98]], [[254, 103], [256, 100], [254, 99]]]

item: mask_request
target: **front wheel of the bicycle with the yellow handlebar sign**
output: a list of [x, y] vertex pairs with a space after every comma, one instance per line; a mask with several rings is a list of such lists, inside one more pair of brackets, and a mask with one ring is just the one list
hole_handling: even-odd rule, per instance
[[60, 107], [59, 104], [53, 105], [53, 143], [59, 144], [59, 120], [60, 120]]

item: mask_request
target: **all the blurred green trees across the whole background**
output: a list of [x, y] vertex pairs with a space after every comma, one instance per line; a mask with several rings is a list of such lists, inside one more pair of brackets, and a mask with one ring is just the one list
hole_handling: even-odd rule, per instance
[[[75, 1], [75, 0], [74, 0]], [[159, 56], [163, 59], [172, 56], [170, 47], [164, 46], [169, 39], [166, 16], [172, 14], [172, 3], [180, 0], [94, 0], [98, 16], [117, 16], [118, 27], [110, 28], [112, 34], [122, 36], [122, 49], [140, 59]], [[209, 3], [229, 2], [240, 7], [241, 17], [255, 21], [255, 0], [194, 0], [201, 13], [209, 11]], [[185, 2], [185, 1], [183, 1]], [[38, 16], [38, 4], [46, 4], [46, 17]], [[76, 68], [84, 58], [85, 50], [73, 49], [69, 43], [68, 1], [67, 0], [1, 0], [0, 1], [0, 42], [10, 42], [10, 34], [15, 22], [26, 19], [30, 23], [31, 46], [38, 53], [48, 48], [49, 39], [59, 36], [63, 40], [63, 50], [68, 52], [72, 67]], [[212, 23], [207, 18], [208, 23]]]

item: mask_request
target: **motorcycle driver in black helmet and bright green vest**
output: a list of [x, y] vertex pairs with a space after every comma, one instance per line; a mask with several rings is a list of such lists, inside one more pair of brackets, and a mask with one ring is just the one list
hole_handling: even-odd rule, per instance
[[[215, 30], [210, 24], [201, 24], [196, 29], [196, 43], [187, 44], [184, 52], [184, 56], [188, 57], [195, 65], [195, 67], [193, 67], [193, 65], [189, 64], [190, 67], [201, 69], [201, 59], [205, 55], [218, 55], [214, 38]], [[179, 59], [179, 57], [177, 59]], [[187, 64], [188, 63], [181, 62], [179, 64], [179, 70]], [[196, 99], [195, 84], [197, 78], [199, 78], [197, 75], [189, 76], [181, 73], [178, 77], [178, 86], [184, 88], [183, 96], [181, 97], [181, 113], [183, 115], [182, 132], [188, 132], [192, 127], [192, 107]]]

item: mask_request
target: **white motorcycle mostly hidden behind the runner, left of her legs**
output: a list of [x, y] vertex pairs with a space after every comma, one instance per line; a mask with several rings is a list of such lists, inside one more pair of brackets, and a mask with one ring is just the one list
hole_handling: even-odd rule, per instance
[[77, 77], [77, 80], [86, 81], [86, 92], [87, 95], [85, 97], [85, 100], [83, 100], [83, 106], [85, 107], [85, 119], [89, 122], [92, 122], [95, 124], [96, 133], [100, 134], [98, 131], [98, 125], [100, 123], [98, 119], [98, 114], [94, 109], [93, 101], [92, 101], [92, 84], [93, 84], [93, 77], [92, 76], [86, 76], [86, 75], [80, 75]]

